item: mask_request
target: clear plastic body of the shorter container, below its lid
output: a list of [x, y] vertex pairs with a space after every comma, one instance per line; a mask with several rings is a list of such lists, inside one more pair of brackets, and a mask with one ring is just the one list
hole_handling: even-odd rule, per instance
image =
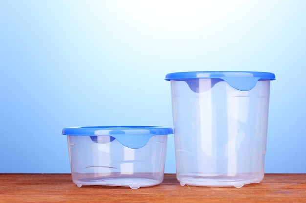
[[[132, 137], [131, 137], [132, 139]], [[142, 148], [125, 147], [110, 136], [68, 136], [73, 182], [82, 185], [153, 186], [162, 182], [167, 135]]]

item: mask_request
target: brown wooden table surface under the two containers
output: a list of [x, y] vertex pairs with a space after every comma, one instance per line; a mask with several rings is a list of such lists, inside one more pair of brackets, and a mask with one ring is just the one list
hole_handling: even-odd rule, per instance
[[0, 174], [0, 203], [306, 203], [306, 174], [266, 174], [259, 184], [235, 187], [180, 186], [175, 174], [153, 187], [82, 186], [71, 174]]

